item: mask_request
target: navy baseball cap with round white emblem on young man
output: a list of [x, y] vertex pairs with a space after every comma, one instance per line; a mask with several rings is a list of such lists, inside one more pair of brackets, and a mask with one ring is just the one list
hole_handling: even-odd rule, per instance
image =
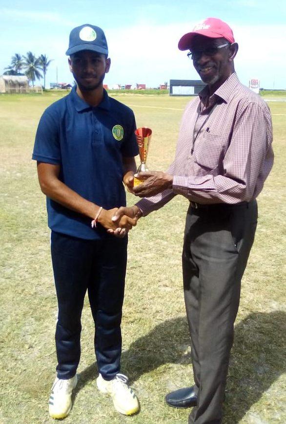
[[69, 46], [65, 54], [70, 56], [82, 50], [92, 50], [97, 53], [108, 54], [106, 38], [101, 28], [85, 23], [71, 30]]

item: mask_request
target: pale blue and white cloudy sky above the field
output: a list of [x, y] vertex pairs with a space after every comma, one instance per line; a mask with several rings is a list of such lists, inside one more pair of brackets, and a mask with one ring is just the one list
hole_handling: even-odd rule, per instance
[[[232, 28], [241, 82], [286, 89], [286, 1], [283, 0], [0, 0], [0, 75], [15, 53], [53, 59], [50, 82], [73, 83], [65, 51], [70, 31], [89, 23], [107, 39], [111, 68], [104, 83], [158, 87], [170, 79], [199, 79], [179, 39], [197, 22], [220, 18]], [[37, 82], [43, 84], [43, 80]]]

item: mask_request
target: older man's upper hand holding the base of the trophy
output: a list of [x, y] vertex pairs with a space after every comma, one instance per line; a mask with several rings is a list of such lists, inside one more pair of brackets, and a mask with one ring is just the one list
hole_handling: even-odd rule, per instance
[[161, 171], [139, 172], [134, 177], [142, 179], [142, 183], [133, 188], [135, 196], [139, 197], [154, 196], [173, 185], [173, 176]]

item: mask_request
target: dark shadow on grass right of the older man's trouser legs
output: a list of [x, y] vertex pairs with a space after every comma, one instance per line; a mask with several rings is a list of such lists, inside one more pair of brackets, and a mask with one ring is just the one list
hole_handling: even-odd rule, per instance
[[[285, 372], [285, 324], [286, 312], [257, 312], [250, 313], [235, 327], [224, 423], [239, 423], [250, 407]], [[279, 399], [274, 396], [272, 394], [266, 401], [268, 408], [273, 404], [273, 415], [275, 405], [279, 404]]]

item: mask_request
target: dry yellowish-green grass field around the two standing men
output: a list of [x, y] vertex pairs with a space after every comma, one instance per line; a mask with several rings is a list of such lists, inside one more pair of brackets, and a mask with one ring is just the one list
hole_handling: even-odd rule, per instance
[[[45, 199], [31, 152], [43, 110], [61, 93], [0, 96], [0, 423], [52, 423], [47, 412], [55, 377], [57, 302], [49, 252]], [[172, 160], [180, 118], [189, 98], [114, 97], [130, 106], [138, 126], [153, 130], [148, 163]], [[277, 99], [277, 96], [276, 96]], [[279, 99], [278, 99], [279, 100]], [[224, 423], [286, 423], [285, 219], [286, 103], [269, 102], [275, 166], [259, 196], [255, 244], [242, 284], [227, 381]], [[135, 201], [128, 194], [128, 204]], [[139, 221], [130, 233], [123, 309], [122, 372], [141, 402], [124, 417], [102, 397], [95, 378], [94, 326], [86, 300], [82, 359], [74, 407], [65, 423], [187, 423], [188, 409], [164, 404], [170, 390], [192, 383], [184, 312], [181, 249], [187, 201], [177, 196]]]

